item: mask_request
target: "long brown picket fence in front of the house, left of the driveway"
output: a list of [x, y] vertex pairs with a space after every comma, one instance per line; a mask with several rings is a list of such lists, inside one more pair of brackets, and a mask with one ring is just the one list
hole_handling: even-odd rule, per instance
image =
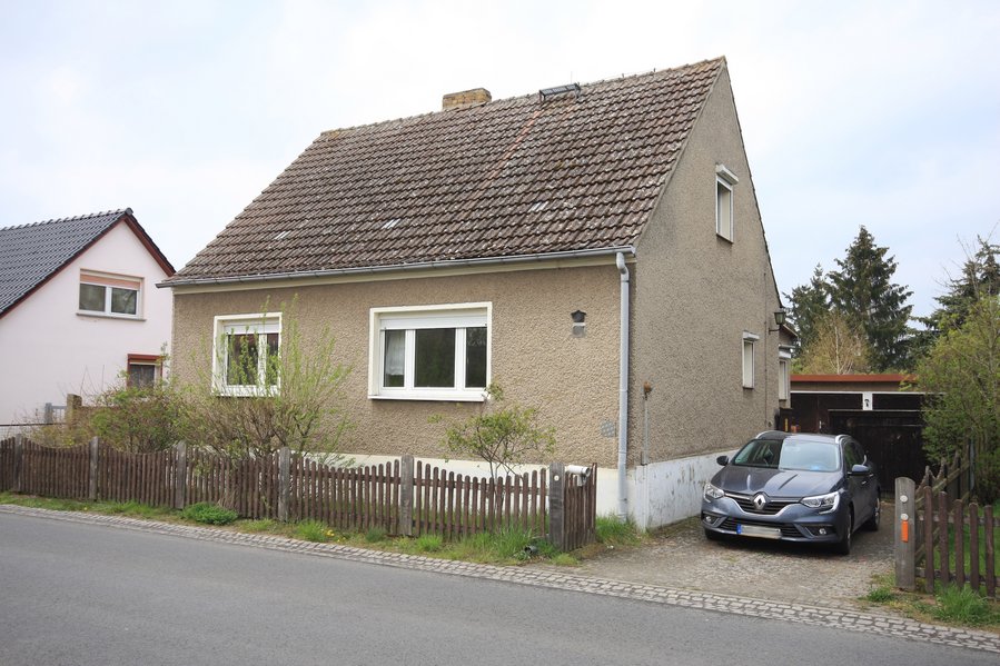
[[516, 526], [573, 549], [595, 538], [596, 468], [585, 475], [563, 469], [554, 464], [492, 479], [456, 475], [410, 456], [341, 468], [288, 449], [231, 460], [185, 445], [129, 454], [96, 438], [70, 448], [22, 438], [0, 441], [0, 490], [178, 509], [210, 501], [245, 518], [315, 519], [339, 529], [379, 527], [392, 535], [447, 539]]

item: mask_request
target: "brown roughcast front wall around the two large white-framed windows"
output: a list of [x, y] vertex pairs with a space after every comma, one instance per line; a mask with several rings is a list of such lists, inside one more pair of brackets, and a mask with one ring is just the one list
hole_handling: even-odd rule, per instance
[[[354, 429], [350, 453], [443, 457], [445, 421], [464, 418], [475, 404], [368, 398], [369, 308], [489, 301], [493, 304], [493, 379], [511, 400], [542, 409], [556, 426], [556, 459], [614, 464], [615, 439], [601, 434], [617, 418], [618, 274], [606, 266], [472, 274], [452, 277], [340, 282], [275, 289], [190, 292], [175, 298], [174, 372], [199, 379], [210, 364], [212, 317], [259, 312], [297, 297], [305, 340], [328, 327], [345, 364], [346, 408]], [[573, 337], [574, 310], [587, 312], [586, 336]], [[202, 371], [204, 376], [205, 372]]]

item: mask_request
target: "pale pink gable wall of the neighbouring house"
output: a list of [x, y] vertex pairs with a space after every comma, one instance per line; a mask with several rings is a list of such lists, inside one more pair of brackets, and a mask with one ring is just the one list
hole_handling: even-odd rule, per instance
[[[78, 314], [80, 270], [145, 278], [140, 319]], [[170, 341], [167, 276], [127, 225], [119, 222], [38, 291], [0, 319], [0, 425], [32, 420], [66, 394], [92, 396], [126, 368], [129, 354], [159, 354]]]

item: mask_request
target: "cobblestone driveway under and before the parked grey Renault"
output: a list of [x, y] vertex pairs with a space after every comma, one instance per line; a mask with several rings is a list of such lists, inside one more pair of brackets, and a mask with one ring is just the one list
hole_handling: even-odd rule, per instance
[[879, 531], [854, 534], [851, 555], [766, 539], [710, 541], [696, 518], [672, 525], [648, 546], [610, 551], [587, 560], [577, 573], [679, 589], [755, 599], [858, 608], [874, 574], [893, 567], [893, 508], [882, 504]]

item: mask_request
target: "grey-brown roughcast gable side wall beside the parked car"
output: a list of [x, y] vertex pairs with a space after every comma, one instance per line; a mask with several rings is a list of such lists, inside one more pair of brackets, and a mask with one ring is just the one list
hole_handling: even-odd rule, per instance
[[[733, 242], [715, 233], [715, 165], [734, 187]], [[630, 464], [733, 448], [778, 408], [778, 296], [729, 78], [723, 71], [637, 247]], [[742, 387], [742, 335], [760, 337], [755, 388]]]

